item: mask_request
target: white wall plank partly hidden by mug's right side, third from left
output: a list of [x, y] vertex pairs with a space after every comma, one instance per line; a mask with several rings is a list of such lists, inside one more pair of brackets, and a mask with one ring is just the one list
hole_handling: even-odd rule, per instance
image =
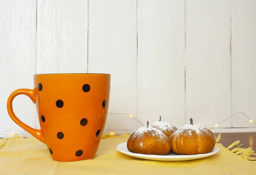
[[[88, 73], [111, 73], [110, 113], [137, 114], [137, 1], [89, 0]], [[106, 129], [136, 129], [108, 115]]]

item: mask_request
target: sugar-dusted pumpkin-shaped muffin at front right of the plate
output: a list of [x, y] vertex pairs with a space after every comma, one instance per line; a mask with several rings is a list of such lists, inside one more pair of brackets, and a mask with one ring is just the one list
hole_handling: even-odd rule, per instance
[[170, 137], [172, 151], [181, 155], [205, 154], [213, 150], [215, 135], [200, 124], [185, 124], [176, 130]]

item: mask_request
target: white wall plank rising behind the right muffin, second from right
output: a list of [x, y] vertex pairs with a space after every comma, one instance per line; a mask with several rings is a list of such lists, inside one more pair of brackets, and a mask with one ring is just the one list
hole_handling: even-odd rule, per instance
[[186, 1], [187, 122], [212, 127], [231, 116], [230, 7], [230, 0]]

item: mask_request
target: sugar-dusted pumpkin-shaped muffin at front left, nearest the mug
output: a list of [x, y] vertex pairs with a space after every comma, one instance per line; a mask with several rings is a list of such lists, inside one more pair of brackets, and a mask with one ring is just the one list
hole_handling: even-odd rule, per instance
[[147, 126], [140, 127], [127, 141], [130, 152], [147, 155], [167, 155], [171, 150], [169, 138], [160, 130]]

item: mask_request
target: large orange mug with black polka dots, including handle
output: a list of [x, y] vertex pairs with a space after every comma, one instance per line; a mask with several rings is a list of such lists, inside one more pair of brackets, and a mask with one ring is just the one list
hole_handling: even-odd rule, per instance
[[[55, 161], [93, 159], [108, 114], [111, 75], [56, 73], [34, 75], [34, 89], [17, 89], [7, 101], [12, 120], [46, 144]], [[35, 103], [41, 129], [15, 116], [12, 101], [26, 95]]]

